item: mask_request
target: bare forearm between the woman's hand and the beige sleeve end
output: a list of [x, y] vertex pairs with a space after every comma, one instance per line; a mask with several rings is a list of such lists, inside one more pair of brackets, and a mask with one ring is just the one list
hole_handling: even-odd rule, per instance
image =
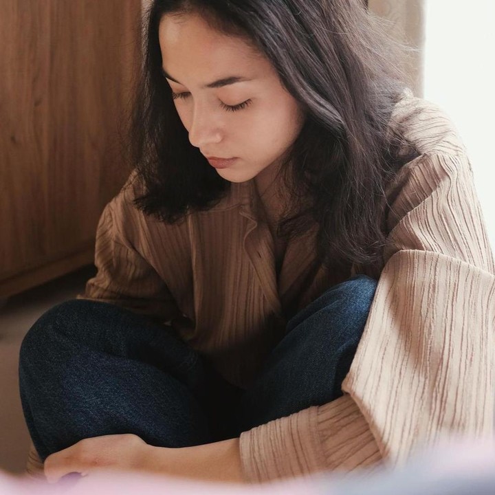
[[147, 445], [142, 470], [203, 481], [245, 483], [239, 438], [183, 448]]

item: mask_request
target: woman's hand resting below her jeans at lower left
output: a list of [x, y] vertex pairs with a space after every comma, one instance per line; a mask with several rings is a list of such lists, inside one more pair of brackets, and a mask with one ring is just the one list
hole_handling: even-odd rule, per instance
[[56, 483], [69, 473], [87, 476], [96, 470], [141, 470], [150, 445], [135, 434], [87, 438], [45, 459], [45, 476]]

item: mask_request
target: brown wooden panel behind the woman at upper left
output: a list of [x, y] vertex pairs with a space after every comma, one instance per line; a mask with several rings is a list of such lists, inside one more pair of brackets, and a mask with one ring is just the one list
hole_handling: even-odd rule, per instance
[[139, 0], [1, 7], [0, 285], [87, 259], [102, 208], [129, 175], [119, 135], [141, 43]]

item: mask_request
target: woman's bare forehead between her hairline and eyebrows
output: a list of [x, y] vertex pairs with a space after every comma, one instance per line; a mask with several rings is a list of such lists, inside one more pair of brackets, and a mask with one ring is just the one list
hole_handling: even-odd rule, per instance
[[183, 67], [210, 71], [245, 67], [257, 72], [270, 66], [247, 41], [214, 30], [197, 14], [166, 14], [159, 24], [159, 44], [164, 69], [171, 75]]

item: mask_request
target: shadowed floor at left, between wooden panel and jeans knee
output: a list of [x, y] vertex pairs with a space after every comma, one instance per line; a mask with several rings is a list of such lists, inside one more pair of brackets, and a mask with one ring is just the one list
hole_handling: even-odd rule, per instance
[[0, 470], [23, 472], [30, 437], [19, 397], [19, 347], [25, 333], [47, 309], [83, 292], [94, 266], [0, 300]]

